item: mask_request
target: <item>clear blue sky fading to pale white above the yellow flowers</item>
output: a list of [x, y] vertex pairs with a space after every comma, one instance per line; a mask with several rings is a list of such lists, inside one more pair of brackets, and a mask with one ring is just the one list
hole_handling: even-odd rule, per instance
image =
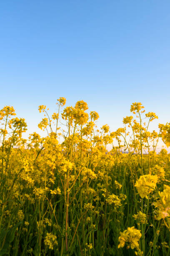
[[170, 1], [1, 0], [0, 95], [30, 132], [59, 97], [86, 101], [112, 131], [132, 102], [169, 122]]

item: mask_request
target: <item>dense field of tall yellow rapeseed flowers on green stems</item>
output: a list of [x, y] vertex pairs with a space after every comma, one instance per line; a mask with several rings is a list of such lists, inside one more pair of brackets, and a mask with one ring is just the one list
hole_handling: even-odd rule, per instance
[[27, 140], [25, 119], [0, 110], [0, 255], [170, 255], [170, 154], [156, 154], [170, 123], [151, 132], [158, 116], [135, 102], [122, 128], [98, 130], [86, 102], [65, 102], [40, 105], [46, 135]]

